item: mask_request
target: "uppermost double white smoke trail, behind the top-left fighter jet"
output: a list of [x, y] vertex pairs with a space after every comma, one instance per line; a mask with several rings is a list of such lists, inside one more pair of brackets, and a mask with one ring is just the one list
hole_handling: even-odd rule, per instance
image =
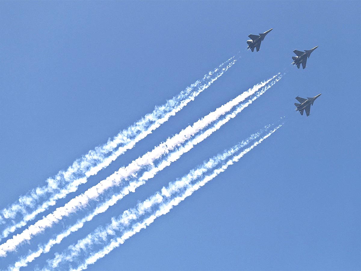
[[66, 171], [60, 171], [55, 177], [48, 178], [47, 185], [32, 189], [25, 196], [21, 196], [17, 203], [1, 210], [0, 224], [5, 223], [6, 228], [0, 234], [0, 240], [16, 229], [25, 226], [28, 221], [47, 210], [49, 206], [55, 205], [58, 199], [75, 192], [80, 184], [87, 182], [88, 177], [96, 175], [119, 155], [132, 149], [137, 142], [152, 133], [171, 116], [174, 116], [221, 77], [235, 64], [237, 60], [234, 58], [235, 56], [219, 65], [206, 74], [203, 79], [196, 81], [164, 105], [156, 107], [152, 113], [145, 115], [129, 128], [119, 132], [112, 140], [109, 139], [105, 145], [89, 151], [81, 159], [76, 160]]

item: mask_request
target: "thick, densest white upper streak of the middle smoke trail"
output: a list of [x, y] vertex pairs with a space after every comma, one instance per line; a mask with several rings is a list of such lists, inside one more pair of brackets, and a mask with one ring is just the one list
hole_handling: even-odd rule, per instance
[[[185, 142], [187, 139], [192, 137], [194, 134], [196, 134], [197, 132], [208, 126], [211, 122], [217, 120], [220, 116], [229, 112], [232, 109], [232, 107], [242, 102], [249, 95], [253, 95], [257, 90], [265, 86], [268, 82], [270, 82], [272, 79], [274, 79], [277, 76], [279, 76], [279, 74], [275, 75], [274, 77], [268, 79], [265, 82], [255, 85], [252, 89], [249, 89], [244, 93], [238, 95], [236, 98], [232, 99], [230, 102], [227, 102], [223, 106], [217, 108], [215, 111], [209, 113], [201, 120], [196, 121], [192, 126], [188, 126], [187, 128], [183, 129], [179, 134], [176, 134], [172, 138], [168, 138], [164, 143], [161, 143], [160, 145], [155, 147], [152, 151], [147, 152], [142, 157], [134, 160], [127, 167], [120, 168], [117, 172], [114, 172], [105, 180], [100, 181], [97, 185], [88, 189], [83, 194], [78, 195], [77, 197], [71, 199], [68, 203], [66, 203], [65, 206], [57, 208], [52, 214], [47, 215], [45, 218], [37, 221], [34, 225], [29, 226], [29, 228], [24, 230], [22, 233], [13, 236], [12, 239], [9, 239], [4, 244], [0, 245], [0, 256], [3, 257], [6, 256], [6, 253], [8, 251], [12, 251], [16, 249], [16, 247], [19, 244], [23, 243], [26, 240], [30, 240], [32, 236], [37, 235], [40, 232], [43, 232], [45, 228], [52, 227], [54, 223], [57, 223], [64, 216], [69, 216], [73, 212], [79, 210], [79, 208], [85, 207], [90, 200], [97, 199], [99, 195], [103, 194], [105, 190], [107, 190], [108, 188], [115, 185], [119, 186], [124, 178], [135, 175], [136, 172], [138, 172], [145, 165], [153, 164], [154, 160], [160, 158], [163, 154], [168, 153], [170, 150], [174, 149], [174, 147], [181, 145], [183, 142]], [[270, 86], [272, 86], [275, 82], [277, 82], [280, 77], [282, 76], [276, 78], [269, 86], [265, 87], [260, 93], [264, 93]], [[252, 99], [253, 100], [256, 99], [256, 97], [259, 95], [261, 94], [257, 94]], [[239, 112], [242, 111], [243, 108], [247, 107], [250, 103], [252, 103], [252, 99], [249, 100], [247, 103], [242, 104], [241, 108], [238, 108], [238, 111]], [[232, 116], [229, 117], [229, 119], [235, 117], [235, 115], [236, 114], [232, 112]], [[163, 168], [165, 167], [164, 165], [162, 166]], [[126, 191], [122, 193], [121, 198], [124, 195], [128, 194], [129, 192], [134, 192], [134, 190], [140, 185], [142, 185], [145, 182], [145, 180], [148, 178], [149, 176], [148, 177], [142, 176], [138, 182], [136, 181], [130, 182], [129, 186], [127, 186], [125, 189]]]

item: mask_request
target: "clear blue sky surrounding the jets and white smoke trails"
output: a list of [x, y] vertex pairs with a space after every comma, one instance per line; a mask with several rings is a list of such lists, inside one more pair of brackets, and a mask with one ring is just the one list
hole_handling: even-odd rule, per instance
[[[359, 1], [2, 1], [0, 22], [1, 208], [238, 52], [209, 89], [79, 192], [249, 87], [286, 73], [24, 270], [41, 268], [111, 216], [281, 116], [286, 123], [274, 135], [89, 270], [361, 269]], [[259, 52], [246, 50], [250, 33], [270, 28]], [[291, 65], [293, 50], [315, 46], [306, 69]], [[309, 117], [294, 111], [296, 96], [319, 93]], [[20, 255], [29, 248], [36, 244]], [[18, 255], [1, 259], [0, 268]]]

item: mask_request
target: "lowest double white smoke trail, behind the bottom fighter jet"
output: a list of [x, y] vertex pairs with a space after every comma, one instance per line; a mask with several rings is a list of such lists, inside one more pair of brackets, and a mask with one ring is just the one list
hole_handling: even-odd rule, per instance
[[[182, 177], [180, 180], [175, 182], [170, 182], [168, 188], [163, 187], [161, 191], [155, 193], [152, 197], [149, 197], [147, 200], [143, 201], [142, 203], [139, 203], [135, 208], [126, 210], [118, 218], [112, 218], [112, 223], [108, 224], [107, 227], [105, 228], [98, 227], [93, 233], [89, 234], [87, 237], [83, 238], [82, 240], [79, 240], [76, 245], [69, 246], [68, 250], [70, 251], [70, 253], [57, 254], [53, 260], [48, 261], [50, 268], [58, 268], [59, 264], [62, 261], [71, 262], [74, 260], [75, 257], [77, 257], [82, 252], [84, 256], [87, 257], [89, 255], [89, 250], [92, 249], [91, 246], [93, 244], [96, 243], [97, 245], [99, 245], [101, 242], [109, 243], [107, 239], [108, 236], [117, 235], [116, 231], [123, 232], [121, 237], [117, 237], [116, 239], [113, 238], [112, 240], [110, 240], [110, 243], [107, 246], [105, 246], [97, 253], [91, 253], [91, 256], [85, 259], [83, 261], [84, 263], [78, 266], [74, 270], [79, 271], [86, 269], [89, 264], [93, 264], [98, 259], [103, 258], [114, 248], [117, 248], [119, 245], [123, 244], [126, 239], [135, 235], [135, 233], [139, 232], [142, 228], [146, 228], [148, 225], [153, 223], [153, 221], [156, 218], [158, 218], [161, 215], [167, 214], [173, 208], [173, 206], [178, 205], [186, 197], [192, 195], [193, 192], [198, 190], [201, 186], [205, 185], [207, 182], [209, 182], [214, 177], [219, 175], [219, 173], [225, 171], [229, 167], [229, 165], [238, 162], [239, 159], [243, 157], [243, 155], [245, 155], [247, 152], [252, 150], [262, 141], [264, 141], [264, 139], [268, 138], [282, 125], [283, 124], [278, 125], [268, 134], [266, 134], [264, 137], [253, 143], [253, 145], [240, 152], [240, 154], [234, 155], [226, 163], [223, 163], [223, 165], [220, 168], [214, 169], [214, 171], [211, 174], [206, 175], [205, 177], [203, 177], [202, 180], [196, 182], [195, 184], [192, 184], [191, 182], [199, 178], [201, 175], [203, 175], [203, 173], [206, 172], [208, 169], [212, 169], [212, 165], [213, 167], [215, 167], [217, 164], [223, 162], [229, 156], [233, 155], [236, 152], [235, 147], [238, 147], [238, 149], [240, 149], [242, 145], [245, 146], [247, 144], [244, 144], [244, 142], [242, 142], [239, 145], [236, 145], [235, 147], [231, 148], [230, 150], [223, 152], [223, 154], [218, 155], [213, 159], [210, 159], [207, 163], [210, 163], [211, 167], [207, 168], [205, 171], [203, 171], [203, 169], [205, 168], [204, 165], [207, 163], [204, 163], [203, 166], [201, 167], [193, 169], [192, 171], [190, 171], [190, 173]], [[219, 159], [220, 157], [221, 159]], [[217, 161], [218, 163], [214, 163], [215, 161]], [[198, 171], [200, 171], [200, 173], [198, 173]], [[155, 206], [158, 206], [157, 210], [155, 210], [154, 208]], [[134, 222], [130, 224], [130, 221], [139, 219], [146, 212], [152, 212], [152, 213], [142, 221]], [[130, 226], [131, 228], [127, 229], [126, 228], [127, 226]], [[77, 262], [79, 261], [77, 260]], [[44, 269], [47, 270], [47, 268]]]

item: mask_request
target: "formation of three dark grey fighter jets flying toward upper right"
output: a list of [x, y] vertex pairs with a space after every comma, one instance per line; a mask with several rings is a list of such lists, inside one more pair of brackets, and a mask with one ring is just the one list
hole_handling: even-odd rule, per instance
[[[270, 30], [267, 30], [264, 33], [260, 33], [258, 35], [253, 35], [252, 33], [248, 35], [248, 37], [250, 38], [249, 40], [247, 40], [247, 44], [248, 47], [247, 49], [251, 49], [251, 51], [260, 51], [260, 47], [261, 47], [261, 42], [264, 40], [265, 36], [271, 32], [271, 30], [273, 30], [273, 28], [271, 28]], [[302, 51], [298, 51], [298, 50], [294, 50], [293, 52], [297, 55], [296, 56], [292, 56], [292, 64], [297, 66], [297, 68], [299, 69], [301, 64], [302, 64], [302, 68], [305, 69], [306, 68], [306, 62], [307, 59], [310, 57], [311, 53], [316, 50], [318, 46], [312, 48], [311, 50], [305, 50], [304, 52]], [[321, 95], [318, 94], [312, 98], [301, 98], [299, 96], [296, 97], [297, 101], [299, 101], [300, 103], [295, 103], [296, 106], [296, 111], [299, 111], [301, 113], [301, 115], [303, 115], [303, 112], [306, 111], [306, 116], [310, 115], [310, 108], [311, 106], [313, 106], [314, 101]]]

